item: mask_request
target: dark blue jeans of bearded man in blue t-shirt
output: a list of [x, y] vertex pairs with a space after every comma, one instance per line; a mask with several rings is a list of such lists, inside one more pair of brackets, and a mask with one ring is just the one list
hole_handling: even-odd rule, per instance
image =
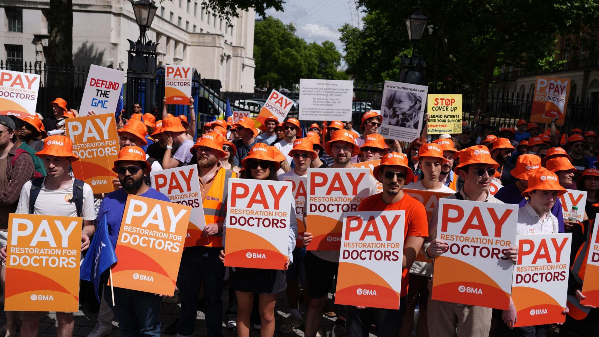
[[160, 336], [160, 302], [162, 297], [145, 291], [114, 287], [114, 306], [110, 287], [105, 287], [104, 299], [119, 321], [122, 337]]

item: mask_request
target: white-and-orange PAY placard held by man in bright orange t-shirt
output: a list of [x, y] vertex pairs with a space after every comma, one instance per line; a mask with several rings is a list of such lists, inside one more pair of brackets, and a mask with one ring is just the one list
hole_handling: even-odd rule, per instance
[[346, 212], [335, 303], [399, 309], [405, 210]]

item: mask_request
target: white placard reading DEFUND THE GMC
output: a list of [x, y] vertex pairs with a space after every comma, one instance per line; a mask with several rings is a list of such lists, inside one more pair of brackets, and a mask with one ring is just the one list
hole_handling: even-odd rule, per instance
[[102, 113], [114, 115], [124, 80], [125, 71], [92, 64], [87, 74], [79, 116], [87, 116], [87, 112], [92, 110], [96, 115]]

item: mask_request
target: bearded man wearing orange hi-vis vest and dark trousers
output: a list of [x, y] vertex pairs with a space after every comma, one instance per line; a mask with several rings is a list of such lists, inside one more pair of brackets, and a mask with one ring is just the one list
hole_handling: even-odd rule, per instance
[[[179, 268], [179, 292], [181, 311], [177, 336], [192, 336], [198, 311], [200, 284], [204, 286], [205, 322], [208, 336], [222, 336], [222, 279], [225, 266], [219, 260], [222, 245], [222, 225], [226, 216], [226, 193], [229, 178], [237, 173], [220, 166], [219, 158], [225, 157], [223, 136], [213, 131], [202, 134], [193, 145], [198, 159], [199, 186], [206, 227], [196, 246], [187, 247], [181, 256]], [[201, 281], [200, 281], [201, 280]]]

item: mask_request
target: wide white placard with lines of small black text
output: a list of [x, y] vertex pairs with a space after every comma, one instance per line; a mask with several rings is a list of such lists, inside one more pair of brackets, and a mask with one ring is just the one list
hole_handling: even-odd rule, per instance
[[353, 81], [299, 79], [299, 119], [352, 119]]

